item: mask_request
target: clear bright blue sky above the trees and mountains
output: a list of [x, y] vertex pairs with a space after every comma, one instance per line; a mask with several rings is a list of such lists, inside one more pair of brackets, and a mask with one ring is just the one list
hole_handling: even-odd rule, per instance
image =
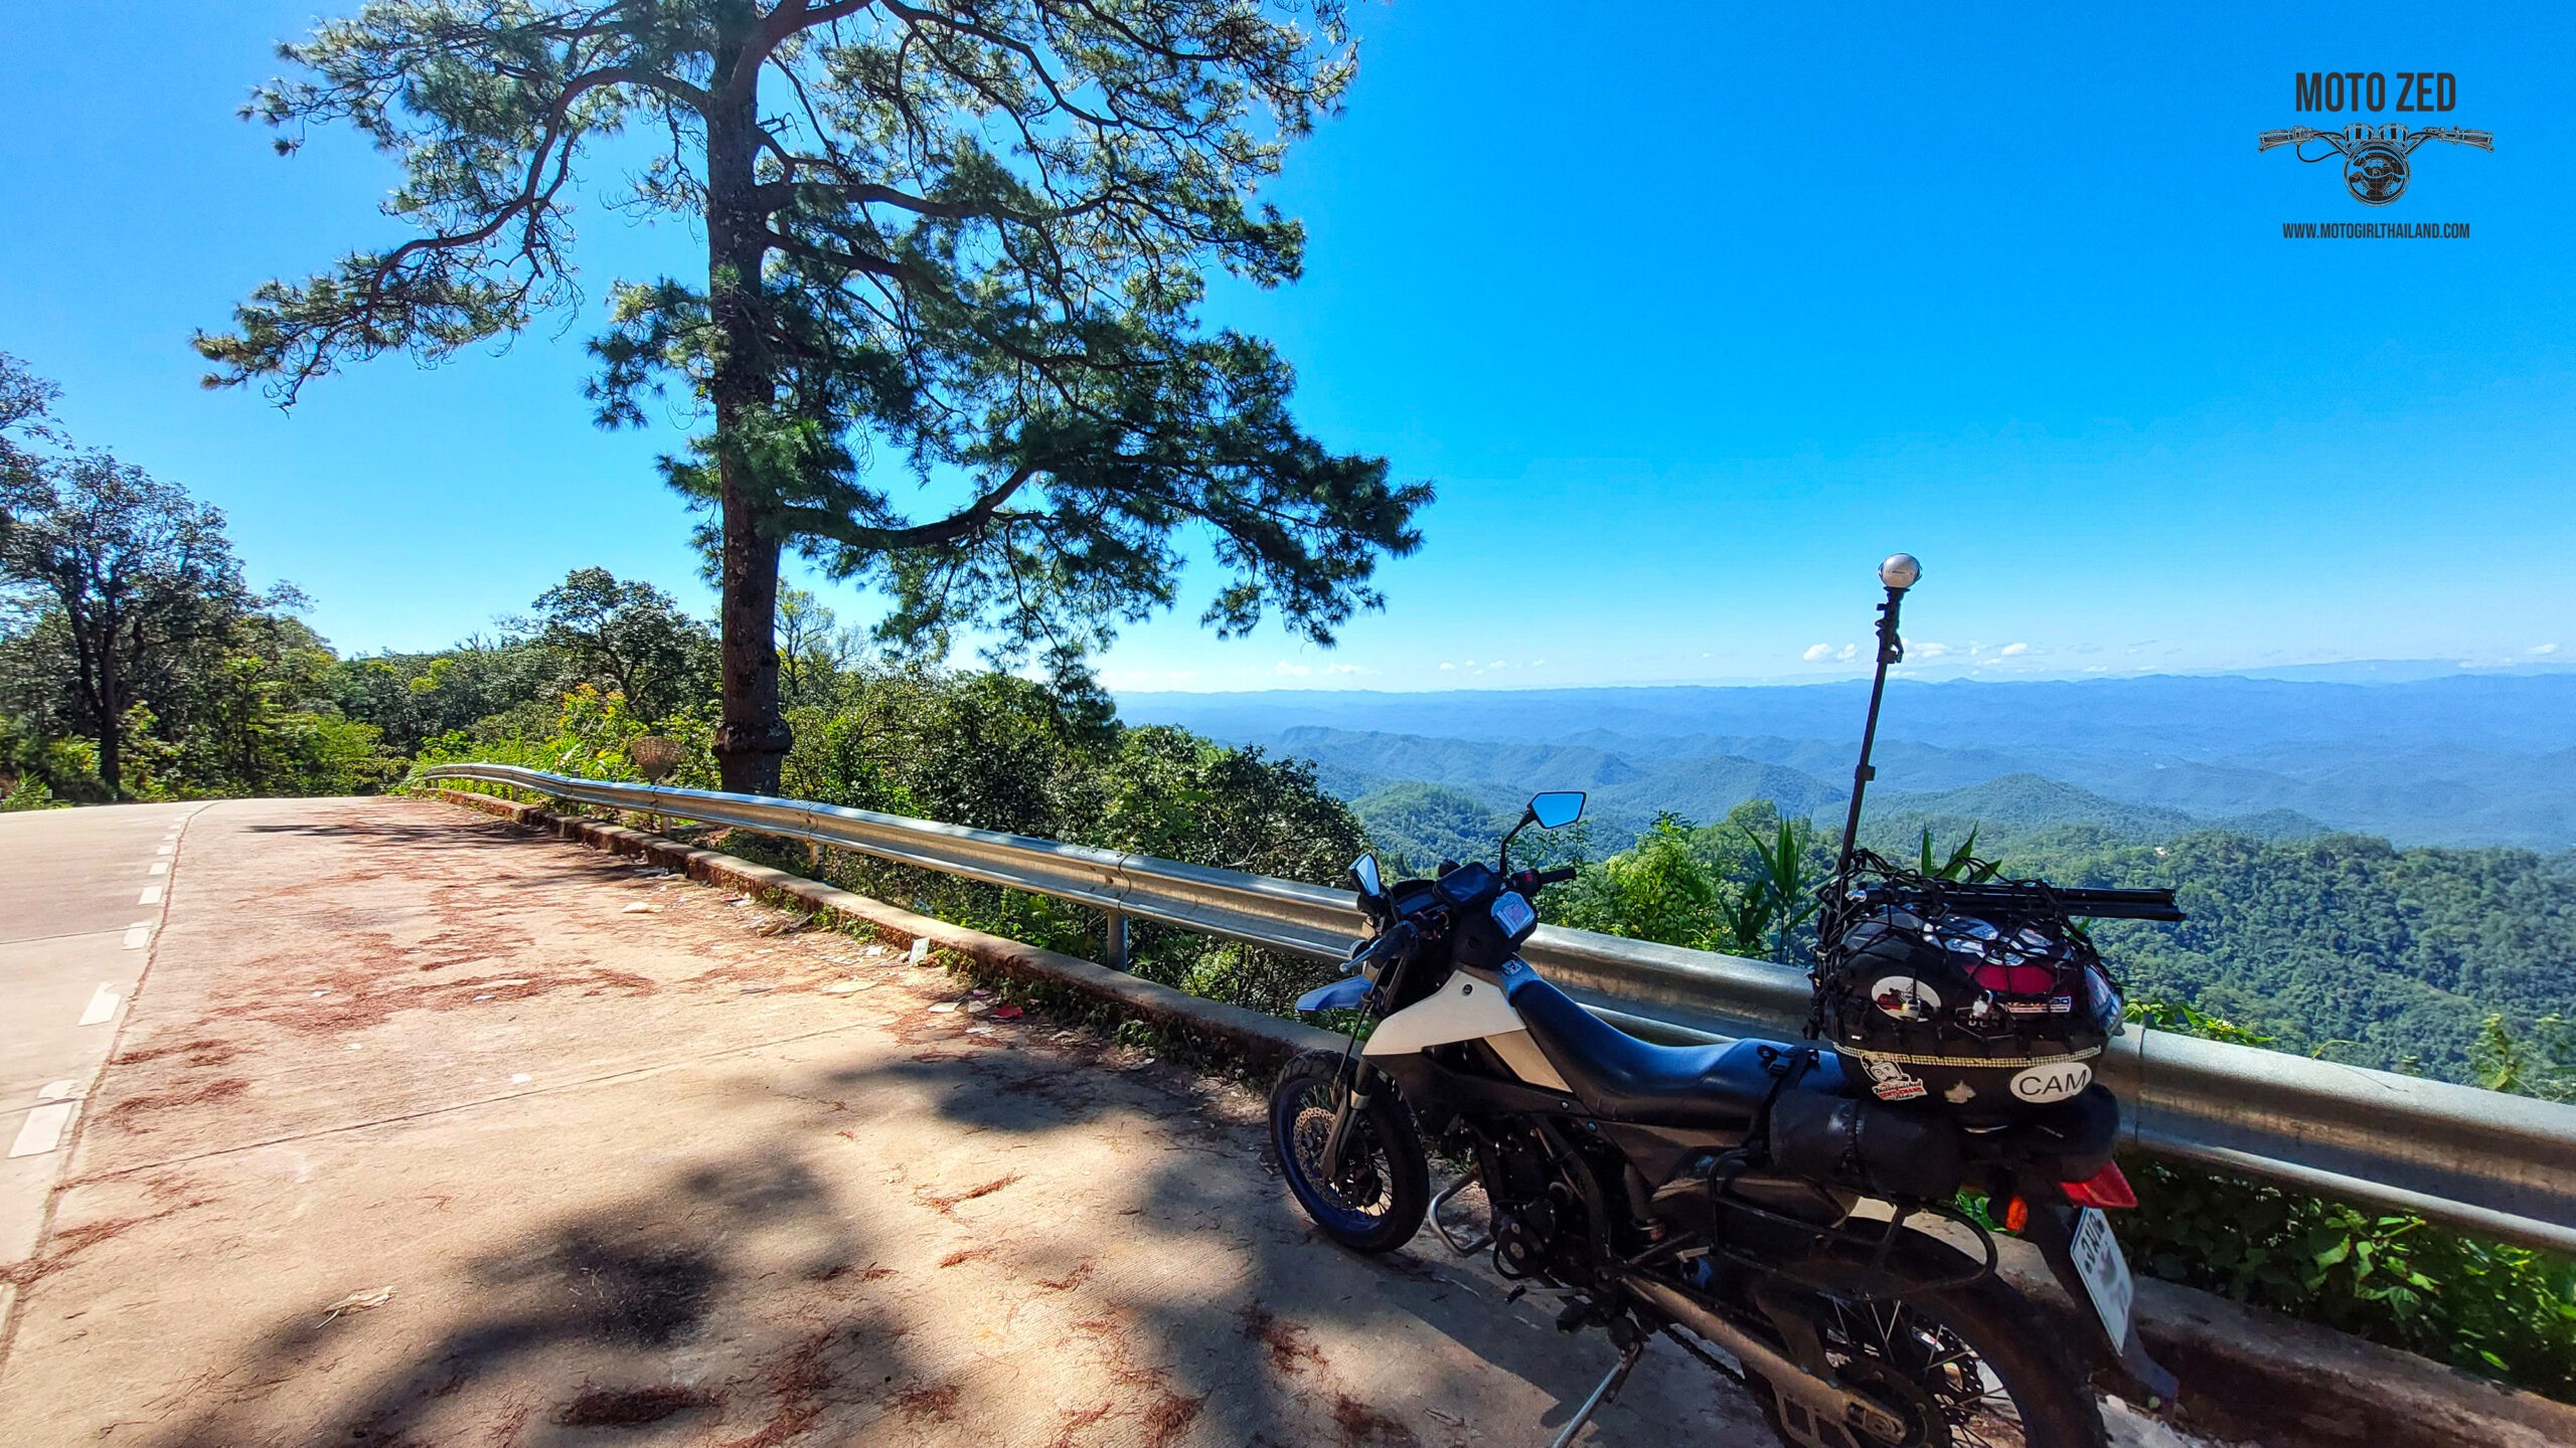
[[[2576, 654], [2576, 18], [1960, 10], [1355, 5], [1347, 113], [1275, 188], [1309, 276], [1211, 314], [1280, 343], [1319, 435], [1440, 484], [1427, 546], [1340, 649], [1221, 644], [1185, 603], [1110, 683], [1847, 678], [1891, 549], [1927, 564], [1927, 675]], [[680, 227], [587, 211], [592, 307], [500, 356], [294, 415], [196, 386], [191, 327], [389, 234], [381, 157], [278, 160], [232, 116], [309, 15], [0, 10], [0, 350], [345, 649], [489, 629], [590, 562], [706, 603], [652, 474], [680, 430], [580, 397], [608, 281], [685, 268]], [[2300, 70], [2452, 72], [2442, 119], [2496, 149], [2427, 147], [2362, 209], [2254, 149], [2321, 121]], [[2473, 237], [2280, 234], [2365, 219]]]

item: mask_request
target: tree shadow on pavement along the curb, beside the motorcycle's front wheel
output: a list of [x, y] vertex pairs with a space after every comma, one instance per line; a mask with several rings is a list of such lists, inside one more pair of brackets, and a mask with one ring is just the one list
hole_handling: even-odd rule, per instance
[[[1092, 1208], [1090, 1221], [1051, 1206], [1043, 1224], [999, 1226], [992, 1268], [1015, 1281], [1079, 1278], [1113, 1255], [1113, 1237], [1167, 1257], [1172, 1270], [1128, 1283], [1105, 1319], [1121, 1371], [1198, 1404], [1208, 1443], [1546, 1443], [1615, 1363], [1600, 1332], [1553, 1329], [1553, 1296], [1515, 1306], [1510, 1283], [1430, 1232], [1381, 1257], [1332, 1244], [1291, 1203], [1260, 1123], [1211, 1121], [1162, 1082], [992, 1046], [933, 1046], [819, 1080], [858, 1098], [907, 1087], [971, 1134], [1159, 1134], [1157, 1165], [1118, 1193], [1126, 1206]], [[1512, 1378], [1538, 1394], [1502, 1420], [1486, 1389]], [[1641, 1422], [1770, 1440], [1752, 1399], [1672, 1348], [1649, 1353], [1597, 1440]]]

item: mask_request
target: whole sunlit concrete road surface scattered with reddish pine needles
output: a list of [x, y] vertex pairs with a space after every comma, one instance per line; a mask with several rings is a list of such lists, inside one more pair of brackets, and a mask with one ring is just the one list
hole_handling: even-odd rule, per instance
[[[175, 819], [0, 819], [13, 1110], [116, 1031], [13, 1448], [1535, 1445], [1610, 1363], [1319, 1242], [1247, 1092], [896, 951], [446, 804], [214, 804], [152, 876]], [[1584, 1443], [1770, 1435], [1664, 1348]]]

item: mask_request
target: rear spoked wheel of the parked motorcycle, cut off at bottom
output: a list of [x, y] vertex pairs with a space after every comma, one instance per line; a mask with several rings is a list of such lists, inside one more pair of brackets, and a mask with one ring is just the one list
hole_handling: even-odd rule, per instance
[[[2102, 1448], [2102, 1409], [2053, 1329], [1996, 1278], [1906, 1299], [1811, 1296], [1806, 1317], [1844, 1386], [1906, 1425], [1870, 1448]], [[1816, 1443], [1798, 1409], [1754, 1378], [1780, 1443]], [[1783, 1417], [1788, 1415], [1788, 1417]]]

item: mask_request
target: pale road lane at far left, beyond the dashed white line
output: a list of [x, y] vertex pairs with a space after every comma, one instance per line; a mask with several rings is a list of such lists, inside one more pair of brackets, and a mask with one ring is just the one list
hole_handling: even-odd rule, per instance
[[196, 809], [0, 814], [0, 1262], [36, 1244]]

